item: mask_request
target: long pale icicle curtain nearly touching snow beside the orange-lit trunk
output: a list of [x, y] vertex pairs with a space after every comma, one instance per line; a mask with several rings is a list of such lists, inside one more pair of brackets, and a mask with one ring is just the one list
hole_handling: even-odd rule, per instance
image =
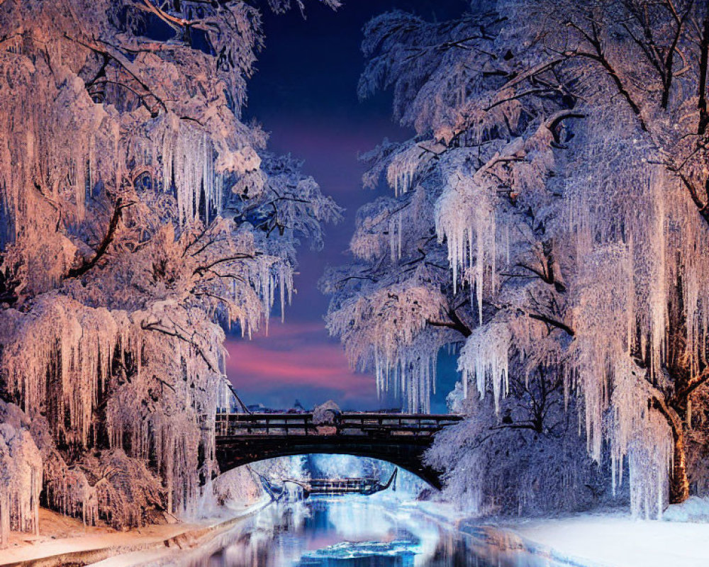
[[[598, 279], [599, 273], [605, 278]], [[627, 466], [632, 512], [657, 517], [669, 497], [674, 454], [670, 427], [652, 410], [654, 400], [663, 396], [646, 380], [650, 370], [632, 359], [637, 273], [624, 247], [600, 249], [588, 257], [579, 274], [579, 305], [574, 308], [571, 379], [584, 395], [589, 454], [600, 462], [610, 439], [613, 490], [623, 484]]]

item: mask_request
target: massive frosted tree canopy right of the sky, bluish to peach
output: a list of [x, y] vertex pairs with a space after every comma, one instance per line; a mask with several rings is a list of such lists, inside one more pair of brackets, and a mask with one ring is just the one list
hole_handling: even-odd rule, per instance
[[689, 0], [375, 18], [360, 94], [391, 87], [415, 137], [369, 155], [365, 185], [386, 174], [394, 196], [360, 210], [354, 262], [323, 283], [331, 332], [411, 409], [446, 344], [493, 430], [520, 384], [559, 383], [638, 514], [686, 498], [686, 439], [705, 437], [707, 18]]

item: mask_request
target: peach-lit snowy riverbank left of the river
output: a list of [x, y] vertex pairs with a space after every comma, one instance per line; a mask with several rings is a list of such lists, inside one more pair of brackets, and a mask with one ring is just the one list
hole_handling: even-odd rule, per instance
[[117, 532], [86, 527], [50, 510], [40, 510], [40, 534], [13, 533], [9, 548], [0, 553], [0, 566], [53, 567], [66, 563], [117, 567], [150, 561], [166, 549], [191, 547], [233, 526], [269, 502], [233, 505], [219, 517], [193, 522], [160, 524]]

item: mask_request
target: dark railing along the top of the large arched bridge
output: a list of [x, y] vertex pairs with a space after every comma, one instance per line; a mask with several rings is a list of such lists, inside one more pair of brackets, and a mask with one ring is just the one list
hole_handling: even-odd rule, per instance
[[245, 435], [392, 435], [430, 436], [462, 416], [450, 414], [344, 412], [328, 423], [316, 424], [312, 413], [220, 413], [217, 437]]

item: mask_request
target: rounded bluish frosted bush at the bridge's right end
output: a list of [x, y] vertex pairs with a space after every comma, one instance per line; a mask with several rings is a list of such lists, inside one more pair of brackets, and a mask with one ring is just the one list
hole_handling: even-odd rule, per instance
[[[608, 460], [601, 466], [588, 456], [559, 388], [543, 399], [535, 381], [527, 395], [503, 398], [500, 413], [491, 398], [473, 396], [459, 406], [468, 417], [440, 432], [426, 454], [444, 472], [443, 497], [474, 515], [549, 515], [626, 502], [625, 493], [611, 498]], [[541, 425], [535, 404], [545, 406]]]

